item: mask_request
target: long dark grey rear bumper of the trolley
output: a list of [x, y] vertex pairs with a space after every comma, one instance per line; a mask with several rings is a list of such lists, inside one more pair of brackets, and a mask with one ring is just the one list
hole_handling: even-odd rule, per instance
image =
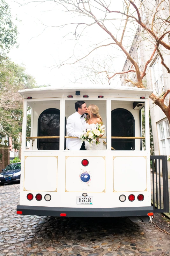
[[[37, 216], [56, 216], [60, 217], [65, 213], [66, 217], [130, 217], [147, 216], [153, 212], [152, 206], [145, 207], [117, 207], [117, 208], [67, 208], [67, 207], [48, 207], [48, 206], [30, 206], [18, 205], [17, 212], [24, 215]], [[20, 213], [21, 214], [21, 213]]]

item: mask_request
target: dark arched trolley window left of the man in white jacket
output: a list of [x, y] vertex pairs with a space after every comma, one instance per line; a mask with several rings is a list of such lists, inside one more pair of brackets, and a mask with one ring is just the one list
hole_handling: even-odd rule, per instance
[[[66, 118], [65, 118], [66, 135]], [[44, 110], [38, 119], [38, 136], [60, 136], [60, 110], [48, 108]], [[65, 143], [66, 144], [66, 143]], [[38, 139], [38, 150], [59, 150], [60, 139]]]

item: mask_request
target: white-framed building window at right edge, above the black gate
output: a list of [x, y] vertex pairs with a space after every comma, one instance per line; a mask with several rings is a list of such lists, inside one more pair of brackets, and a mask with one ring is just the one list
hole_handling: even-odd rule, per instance
[[158, 124], [159, 148], [161, 155], [170, 155], [170, 125], [168, 119]]

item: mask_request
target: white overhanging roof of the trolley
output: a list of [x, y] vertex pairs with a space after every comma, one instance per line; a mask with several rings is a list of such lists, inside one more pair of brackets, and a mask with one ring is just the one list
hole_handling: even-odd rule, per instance
[[19, 90], [18, 92], [21, 95], [25, 95], [27, 93], [39, 94], [39, 93], [59, 93], [59, 92], [75, 92], [75, 91], [82, 91], [82, 92], [108, 92], [112, 91], [114, 93], [145, 93], [150, 95], [153, 91], [151, 89], [141, 89], [137, 87], [126, 87], [120, 86], [115, 87], [112, 85], [103, 85], [103, 84], [72, 84], [72, 85], [59, 85], [56, 88], [53, 87], [38, 87], [34, 89], [25, 89]]

